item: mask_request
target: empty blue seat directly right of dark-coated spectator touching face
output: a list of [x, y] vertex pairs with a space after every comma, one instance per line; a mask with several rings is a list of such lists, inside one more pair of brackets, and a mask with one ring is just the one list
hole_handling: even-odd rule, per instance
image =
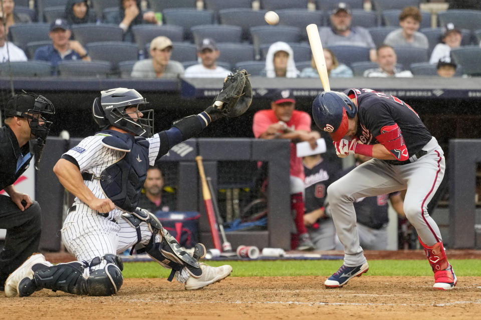
[[165, 24], [180, 25], [184, 28], [184, 39], [192, 40], [190, 27], [199, 24], [212, 24], [213, 12], [210, 10], [197, 10], [195, 8], [164, 9], [162, 19]]

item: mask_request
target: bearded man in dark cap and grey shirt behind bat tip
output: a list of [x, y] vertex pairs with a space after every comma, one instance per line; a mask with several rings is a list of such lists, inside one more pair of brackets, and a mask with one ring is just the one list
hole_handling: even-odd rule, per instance
[[323, 46], [329, 45], [360, 45], [370, 48], [369, 57], [376, 61], [376, 45], [371, 34], [361, 26], [351, 26], [352, 13], [349, 4], [339, 2], [332, 10], [331, 26], [319, 29]]

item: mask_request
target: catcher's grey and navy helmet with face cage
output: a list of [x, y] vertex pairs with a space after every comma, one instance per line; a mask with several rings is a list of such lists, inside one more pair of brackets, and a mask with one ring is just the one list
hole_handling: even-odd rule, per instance
[[[135, 89], [109, 89], [100, 91], [100, 96], [95, 98], [92, 114], [101, 129], [113, 125], [135, 135], [150, 137], [154, 129], [154, 110], [140, 110], [140, 106], [147, 103], [149, 102]], [[143, 116], [131, 117], [125, 112], [129, 106], [137, 106]]]

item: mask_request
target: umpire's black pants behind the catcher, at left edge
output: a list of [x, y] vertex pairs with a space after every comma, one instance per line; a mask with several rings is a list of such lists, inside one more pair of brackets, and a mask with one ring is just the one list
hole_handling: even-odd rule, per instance
[[21, 211], [10, 196], [0, 194], [0, 229], [7, 229], [4, 248], [0, 251], [0, 288], [7, 276], [39, 249], [42, 231], [40, 205]]

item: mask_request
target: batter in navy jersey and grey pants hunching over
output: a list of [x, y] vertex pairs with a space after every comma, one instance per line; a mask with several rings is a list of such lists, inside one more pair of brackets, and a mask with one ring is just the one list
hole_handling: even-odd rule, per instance
[[344, 263], [324, 285], [340, 287], [369, 268], [359, 244], [354, 200], [406, 189], [404, 212], [434, 272], [433, 288], [452, 289], [457, 279], [439, 228], [427, 212], [444, 175], [444, 155], [418, 114], [395, 96], [357, 88], [319, 94], [312, 113], [316, 124], [331, 135], [339, 157], [373, 157], [328, 187]]

